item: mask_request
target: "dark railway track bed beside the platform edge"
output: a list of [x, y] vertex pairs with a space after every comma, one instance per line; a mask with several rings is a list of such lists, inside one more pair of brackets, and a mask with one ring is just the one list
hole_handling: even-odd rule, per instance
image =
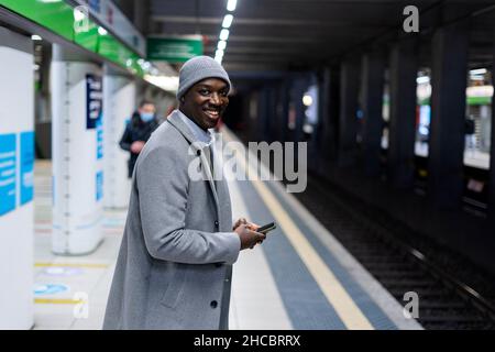
[[[316, 177], [296, 196], [400, 304], [407, 304], [405, 293], [418, 294], [417, 320], [425, 329], [495, 329], [495, 299], [458, 278], [454, 266], [446, 268], [431, 260], [431, 248], [426, 255], [405, 242], [397, 233], [403, 228], [384, 223], [388, 221], [370, 213], [358, 199]], [[462, 271], [466, 275], [466, 267]]]

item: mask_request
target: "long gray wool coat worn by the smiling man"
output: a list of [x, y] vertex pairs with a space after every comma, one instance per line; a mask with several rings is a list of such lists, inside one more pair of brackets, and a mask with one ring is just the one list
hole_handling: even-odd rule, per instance
[[[173, 112], [138, 158], [103, 329], [228, 329], [241, 242], [227, 182], [194, 142]], [[194, 158], [202, 180], [189, 177]]]

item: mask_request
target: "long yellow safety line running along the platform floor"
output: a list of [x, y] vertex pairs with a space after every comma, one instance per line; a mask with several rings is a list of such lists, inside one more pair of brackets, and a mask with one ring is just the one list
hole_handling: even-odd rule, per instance
[[[239, 157], [238, 161], [241, 161], [244, 169], [246, 166], [249, 167], [250, 175], [256, 175], [256, 172], [251, 165], [246, 165], [243, 157]], [[351, 330], [374, 330], [289, 215], [280, 207], [272, 191], [261, 180], [253, 180], [252, 184], [345, 327]]]

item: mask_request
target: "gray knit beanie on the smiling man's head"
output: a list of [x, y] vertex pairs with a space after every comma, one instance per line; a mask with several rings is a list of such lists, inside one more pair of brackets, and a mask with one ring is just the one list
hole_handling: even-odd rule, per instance
[[206, 78], [220, 78], [231, 87], [229, 75], [223, 67], [210, 56], [195, 56], [189, 58], [180, 68], [177, 99], [198, 81]]

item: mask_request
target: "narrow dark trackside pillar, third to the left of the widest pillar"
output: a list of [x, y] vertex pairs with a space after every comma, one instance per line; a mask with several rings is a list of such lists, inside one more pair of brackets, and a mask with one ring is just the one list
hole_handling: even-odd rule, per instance
[[344, 61], [340, 68], [339, 166], [351, 166], [354, 164], [358, 147], [359, 69], [356, 59]]

